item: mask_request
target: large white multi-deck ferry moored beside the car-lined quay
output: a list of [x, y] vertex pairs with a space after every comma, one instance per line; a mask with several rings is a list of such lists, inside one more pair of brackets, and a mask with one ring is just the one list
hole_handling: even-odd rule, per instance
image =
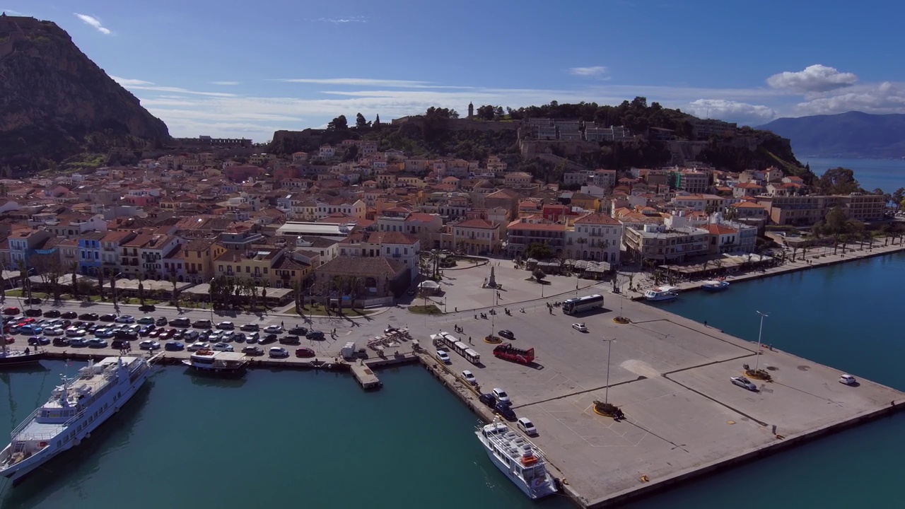
[[149, 361], [141, 357], [108, 357], [90, 361], [79, 376], [63, 378], [50, 399], [10, 434], [0, 452], [0, 475], [14, 483], [53, 456], [78, 446], [144, 385]]

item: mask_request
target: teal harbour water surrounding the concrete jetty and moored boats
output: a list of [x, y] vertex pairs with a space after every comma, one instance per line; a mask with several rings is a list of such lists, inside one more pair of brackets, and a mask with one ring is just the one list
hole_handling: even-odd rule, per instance
[[[658, 305], [749, 340], [757, 340], [756, 311], [767, 312], [764, 341], [776, 349], [905, 389], [895, 298], [903, 275], [905, 255], [886, 255]], [[80, 366], [45, 361], [0, 372], [4, 440], [61, 373]], [[425, 370], [384, 370], [380, 378], [384, 389], [366, 393], [339, 373], [252, 370], [218, 380], [156, 368], [75, 454], [15, 488], [0, 484], [0, 509], [106, 509], [123, 501], [136, 509], [572, 506], [561, 496], [532, 503], [504, 478], [472, 434], [475, 416]], [[632, 507], [898, 506], [903, 425], [901, 415], [881, 419]]]

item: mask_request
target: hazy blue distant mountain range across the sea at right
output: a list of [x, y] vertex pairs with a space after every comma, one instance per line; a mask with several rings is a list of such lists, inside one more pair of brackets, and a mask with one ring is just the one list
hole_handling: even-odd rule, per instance
[[799, 158], [905, 157], [905, 115], [872, 115], [849, 111], [776, 119], [757, 129], [772, 130], [792, 140]]

